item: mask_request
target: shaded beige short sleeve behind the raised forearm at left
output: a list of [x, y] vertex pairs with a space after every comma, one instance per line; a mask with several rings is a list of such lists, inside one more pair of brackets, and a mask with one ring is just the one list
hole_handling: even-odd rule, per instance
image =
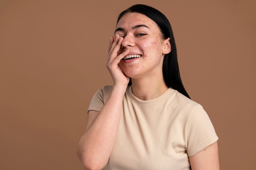
[[90, 110], [101, 111], [104, 103], [108, 99], [111, 89], [112, 86], [103, 86], [101, 89], [98, 89], [92, 97], [88, 112]]

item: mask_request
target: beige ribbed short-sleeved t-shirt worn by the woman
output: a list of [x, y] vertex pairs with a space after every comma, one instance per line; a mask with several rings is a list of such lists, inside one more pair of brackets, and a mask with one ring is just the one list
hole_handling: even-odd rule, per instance
[[[101, 111], [111, 89], [99, 89], [88, 111]], [[103, 169], [190, 170], [189, 156], [217, 140], [198, 103], [171, 88], [153, 100], [140, 100], [128, 86], [115, 147]]]

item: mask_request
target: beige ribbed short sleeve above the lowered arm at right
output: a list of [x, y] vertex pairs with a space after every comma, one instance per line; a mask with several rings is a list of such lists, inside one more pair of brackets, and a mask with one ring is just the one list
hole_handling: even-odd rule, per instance
[[201, 105], [196, 105], [191, 112], [186, 137], [189, 157], [218, 140], [213, 124]]

